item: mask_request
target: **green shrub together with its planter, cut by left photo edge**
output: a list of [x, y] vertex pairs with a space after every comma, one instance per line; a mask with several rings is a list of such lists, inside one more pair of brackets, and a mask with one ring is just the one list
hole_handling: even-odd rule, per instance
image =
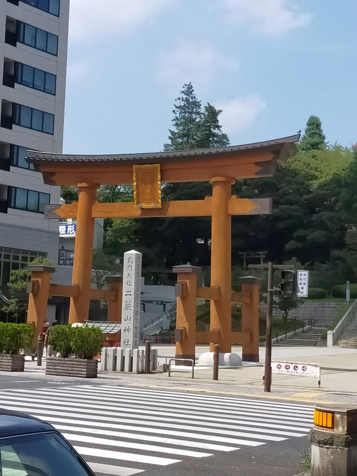
[[33, 330], [29, 324], [0, 322], [0, 370], [23, 372], [25, 356], [20, 350], [32, 345]]

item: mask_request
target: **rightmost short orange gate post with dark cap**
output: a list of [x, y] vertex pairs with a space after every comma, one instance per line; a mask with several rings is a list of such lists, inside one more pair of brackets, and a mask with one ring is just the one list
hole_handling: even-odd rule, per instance
[[242, 360], [259, 362], [259, 285], [263, 280], [254, 276], [239, 278], [242, 293], [250, 295], [250, 303], [242, 303], [242, 332], [250, 334], [250, 343], [242, 343]]

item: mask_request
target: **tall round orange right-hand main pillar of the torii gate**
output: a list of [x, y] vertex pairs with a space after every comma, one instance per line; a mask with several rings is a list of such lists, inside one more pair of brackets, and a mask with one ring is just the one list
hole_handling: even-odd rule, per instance
[[[211, 301], [210, 329], [219, 330], [219, 352], [231, 352], [231, 215], [228, 200], [233, 177], [214, 177], [212, 184], [211, 286], [219, 286], [219, 301]], [[210, 352], [214, 343], [210, 343]]]

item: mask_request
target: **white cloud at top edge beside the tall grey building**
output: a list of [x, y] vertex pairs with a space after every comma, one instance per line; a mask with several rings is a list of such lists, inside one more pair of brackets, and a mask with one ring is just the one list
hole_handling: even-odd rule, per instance
[[71, 0], [69, 37], [125, 34], [168, 4], [169, 0]]

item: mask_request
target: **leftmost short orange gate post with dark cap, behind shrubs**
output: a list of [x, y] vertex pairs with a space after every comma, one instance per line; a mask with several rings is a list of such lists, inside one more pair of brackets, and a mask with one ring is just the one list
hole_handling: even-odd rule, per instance
[[28, 283], [30, 294], [26, 322], [34, 327], [33, 345], [36, 346], [43, 321], [47, 317], [51, 273], [54, 273], [56, 268], [53, 266], [30, 265], [26, 269], [31, 272], [31, 279]]

